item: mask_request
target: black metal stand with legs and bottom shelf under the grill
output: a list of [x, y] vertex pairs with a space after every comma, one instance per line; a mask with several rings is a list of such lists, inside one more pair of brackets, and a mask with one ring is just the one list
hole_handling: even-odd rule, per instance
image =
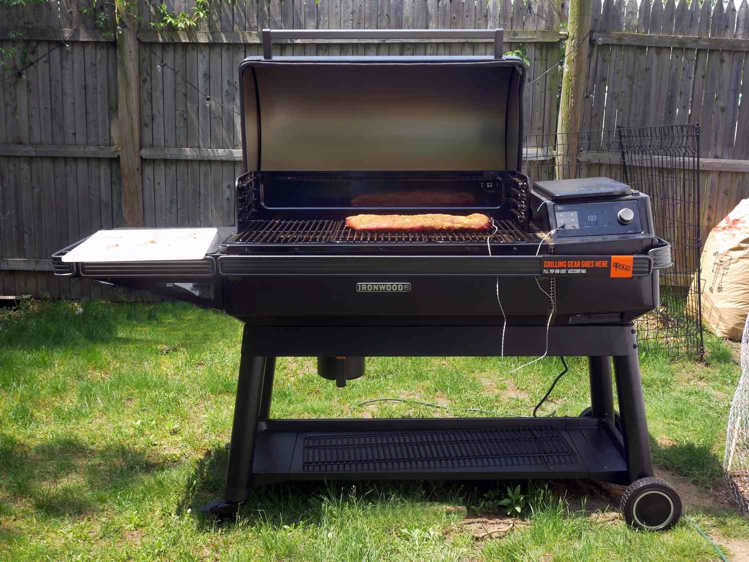
[[[652, 476], [652, 462], [632, 324], [607, 326], [512, 327], [507, 330], [507, 355], [587, 355], [589, 357], [591, 417], [579, 418], [458, 418], [374, 420], [273, 420], [270, 419], [273, 372], [277, 356], [443, 356], [485, 355], [499, 352], [502, 327], [410, 327], [392, 330], [368, 327], [252, 327], [242, 338], [234, 426], [231, 431], [223, 498], [205, 508], [227, 513], [247, 500], [253, 486], [285, 480], [365, 480], [443, 478], [502, 480], [509, 478], [590, 478], [628, 484]], [[613, 423], [611, 359], [621, 410], [622, 432]], [[401, 459], [392, 470], [392, 450], [398, 439], [431, 433], [433, 438], [476, 432], [543, 433], [551, 429], [572, 454], [533, 455], [486, 453], [470, 462], [461, 457], [450, 467], [450, 456], [430, 457], [431, 466], [418, 468], [419, 460]], [[419, 433], [421, 432], [421, 433]], [[623, 435], [622, 435], [623, 434]], [[389, 439], [392, 445], [369, 447], [372, 458], [346, 461], [342, 470], [305, 471], [303, 442], [309, 438]], [[533, 441], [531, 438], [530, 441]], [[535, 438], [542, 441], [542, 438]], [[389, 443], [390, 443], [389, 441]], [[481, 445], [477, 445], [480, 447]], [[404, 444], [403, 447], [406, 447]], [[424, 445], [423, 447], [427, 447]], [[564, 448], [564, 447], [562, 447]], [[443, 447], [443, 450], [444, 447]], [[567, 451], [568, 452], [568, 451]], [[380, 455], [382, 459], [378, 458]], [[443, 453], [444, 455], [444, 453]], [[419, 456], [416, 453], [413, 456]], [[421, 455], [423, 456], [423, 455]], [[529, 463], [530, 457], [541, 457]], [[437, 462], [439, 461], [439, 462]], [[457, 462], [457, 461], [456, 461]], [[416, 468], [404, 468], [411, 463]], [[331, 461], [329, 464], [334, 464]], [[437, 465], [441, 465], [438, 467]], [[327, 465], [325, 465], [327, 466]], [[374, 467], [374, 468], [373, 468]], [[379, 468], [378, 468], [379, 467]]]

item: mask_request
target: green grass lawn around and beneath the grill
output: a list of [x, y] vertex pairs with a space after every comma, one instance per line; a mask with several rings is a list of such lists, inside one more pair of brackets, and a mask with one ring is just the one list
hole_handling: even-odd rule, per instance
[[[222, 489], [240, 333], [182, 303], [0, 309], [0, 559], [718, 560], [686, 519], [631, 531], [617, 489], [589, 483], [513, 483], [525, 496], [517, 518], [497, 506], [506, 483], [282, 484], [216, 525], [198, 508]], [[641, 357], [649, 430], [659, 471], [697, 498], [691, 519], [739, 560], [749, 523], [718, 497], [740, 369], [708, 343], [707, 363]], [[521, 361], [373, 358], [338, 389], [312, 358], [279, 359], [272, 415], [530, 415], [560, 363], [503, 376]], [[588, 405], [586, 362], [569, 365], [541, 414]], [[407, 402], [361, 405], [381, 397]]]

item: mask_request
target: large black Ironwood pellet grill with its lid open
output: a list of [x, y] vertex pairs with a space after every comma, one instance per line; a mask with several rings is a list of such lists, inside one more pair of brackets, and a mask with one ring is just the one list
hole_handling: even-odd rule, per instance
[[[494, 56], [276, 57], [294, 38], [495, 40]], [[632, 320], [658, 306], [670, 245], [649, 198], [608, 178], [522, 173], [524, 63], [502, 30], [263, 31], [239, 67], [236, 227], [195, 260], [66, 262], [244, 322], [223, 498], [287, 480], [586, 478], [628, 485], [625, 519], [673, 526], [653, 478]], [[360, 232], [352, 214], [491, 217], [487, 232]], [[339, 386], [367, 356], [586, 356], [580, 417], [279, 420], [276, 357], [318, 357]], [[611, 364], [619, 399], [613, 408]], [[497, 373], [498, 376], [501, 373]]]

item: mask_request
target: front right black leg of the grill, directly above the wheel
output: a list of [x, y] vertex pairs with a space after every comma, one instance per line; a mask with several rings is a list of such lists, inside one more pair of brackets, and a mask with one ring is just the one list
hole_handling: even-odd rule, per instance
[[615, 356], [613, 371], [616, 378], [616, 394], [619, 396], [619, 414], [624, 424], [629, 482], [633, 483], [635, 480], [653, 475], [637, 348], [632, 348], [627, 355]]

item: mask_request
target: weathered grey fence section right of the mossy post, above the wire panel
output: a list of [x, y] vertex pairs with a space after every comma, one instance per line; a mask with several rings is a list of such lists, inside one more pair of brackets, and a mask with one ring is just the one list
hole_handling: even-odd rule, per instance
[[747, 0], [593, 0], [591, 31], [580, 129], [699, 122], [704, 241], [749, 197]]

